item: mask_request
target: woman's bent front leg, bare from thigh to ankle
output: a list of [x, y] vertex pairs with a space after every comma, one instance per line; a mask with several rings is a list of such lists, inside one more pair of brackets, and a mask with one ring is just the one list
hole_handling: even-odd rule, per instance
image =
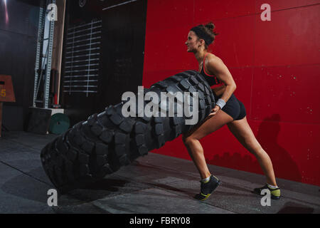
[[201, 125], [196, 126], [188, 134], [183, 135], [183, 143], [186, 145], [188, 153], [201, 175], [201, 179], [210, 177], [210, 171], [208, 170], [206, 159], [203, 155], [203, 147], [199, 140], [231, 121], [233, 121], [233, 118], [230, 115], [223, 112], [223, 110], [219, 110], [217, 114], [206, 119]]

